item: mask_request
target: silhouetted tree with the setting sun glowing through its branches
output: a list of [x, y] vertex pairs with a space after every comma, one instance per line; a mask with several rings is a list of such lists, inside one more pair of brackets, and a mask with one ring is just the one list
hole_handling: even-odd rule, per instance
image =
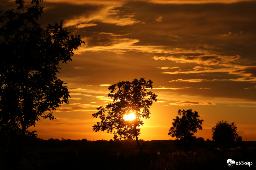
[[142, 118], [150, 118], [149, 108], [154, 101], [157, 101], [157, 95], [147, 91], [147, 89], [153, 88], [152, 83], [152, 80], [146, 81], [144, 78], [140, 78], [134, 79], [132, 82], [122, 81], [109, 86], [108, 97], [113, 99], [113, 103], [106, 107], [98, 107], [98, 112], [92, 114], [92, 117], [99, 117], [101, 120], [94, 124], [93, 130], [95, 132], [100, 130], [107, 130], [107, 133], [113, 132], [114, 139], [117, 136], [120, 139], [136, 139], [142, 151], [138, 141], [139, 127], [144, 124]]

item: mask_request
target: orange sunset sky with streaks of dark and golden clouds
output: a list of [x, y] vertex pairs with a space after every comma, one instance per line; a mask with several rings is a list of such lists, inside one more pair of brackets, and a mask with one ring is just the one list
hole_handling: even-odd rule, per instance
[[[7, 0], [2, 7], [15, 8]], [[38, 137], [109, 140], [94, 132], [92, 113], [110, 103], [108, 86], [145, 78], [158, 101], [139, 139], [168, 140], [179, 109], [197, 111], [212, 139], [218, 121], [235, 122], [237, 133], [256, 141], [256, 1], [241, 0], [44, 0], [42, 27], [63, 27], [85, 42], [61, 64], [58, 78], [71, 98], [40, 120]]]

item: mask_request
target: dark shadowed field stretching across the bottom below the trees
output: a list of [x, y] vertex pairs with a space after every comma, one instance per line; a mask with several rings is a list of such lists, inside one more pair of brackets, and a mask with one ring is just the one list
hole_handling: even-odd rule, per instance
[[[241, 147], [215, 148], [212, 141], [201, 141], [184, 150], [175, 141], [140, 140], [143, 152], [132, 140], [33, 139], [23, 150], [18, 169], [255, 169], [256, 142]], [[12, 169], [17, 148], [1, 149], [0, 169]], [[249, 161], [252, 165], [229, 167], [227, 159]]]

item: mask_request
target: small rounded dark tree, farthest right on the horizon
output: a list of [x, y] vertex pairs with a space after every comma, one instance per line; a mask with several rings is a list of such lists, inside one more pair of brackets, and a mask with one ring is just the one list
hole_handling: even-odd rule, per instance
[[222, 147], [230, 147], [238, 138], [236, 129], [237, 127], [234, 122], [230, 124], [228, 121], [218, 121], [212, 128], [212, 140]]

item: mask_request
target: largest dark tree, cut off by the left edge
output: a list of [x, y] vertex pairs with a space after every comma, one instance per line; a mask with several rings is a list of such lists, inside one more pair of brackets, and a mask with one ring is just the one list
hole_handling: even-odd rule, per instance
[[32, 0], [24, 11], [24, 1], [17, 0], [17, 11], [0, 16], [1, 137], [35, 135], [28, 127], [40, 118], [56, 119], [51, 110], [68, 104], [68, 88], [56, 73], [59, 63], [71, 61], [73, 50], [84, 42], [79, 35], [69, 36], [62, 21], [42, 28], [37, 23], [42, 1]]

